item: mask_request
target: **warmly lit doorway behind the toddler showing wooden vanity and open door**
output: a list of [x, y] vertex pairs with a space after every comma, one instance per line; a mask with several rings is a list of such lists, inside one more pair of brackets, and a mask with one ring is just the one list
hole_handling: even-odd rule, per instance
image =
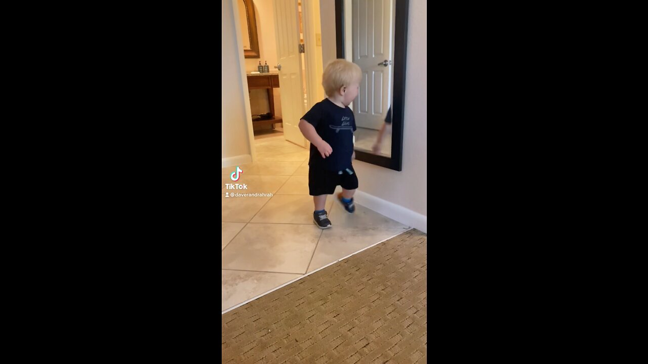
[[[323, 90], [313, 87], [321, 88], [319, 0], [237, 0], [237, 3], [240, 26], [244, 28], [242, 36], [246, 38], [244, 47], [249, 47], [248, 38], [256, 38], [259, 49], [252, 56], [246, 54], [244, 60], [253, 118], [250, 133], [253, 139], [283, 136], [286, 141], [307, 149], [310, 145], [299, 131], [299, 119], [323, 98], [315, 95], [323, 95]], [[250, 7], [252, 10], [246, 14], [246, 8]], [[299, 52], [298, 45], [302, 45]], [[288, 53], [296, 55], [297, 62], [291, 63]], [[268, 80], [261, 81], [262, 78]]]

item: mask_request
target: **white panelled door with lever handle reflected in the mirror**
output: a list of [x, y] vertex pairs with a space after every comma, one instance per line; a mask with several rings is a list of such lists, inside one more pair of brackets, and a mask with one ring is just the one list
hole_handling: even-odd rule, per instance
[[391, 103], [393, 0], [353, 0], [351, 14], [353, 63], [362, 69], [353, 113], [359, 128], [378, 130]]

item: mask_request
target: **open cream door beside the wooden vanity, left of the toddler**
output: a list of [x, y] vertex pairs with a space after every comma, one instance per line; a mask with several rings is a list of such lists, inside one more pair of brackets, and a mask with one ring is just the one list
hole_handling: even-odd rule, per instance
[[299, 119], [304, 110], [304, 91], [299, 53], [299, 23], [297, 0], [274, 0], [275, 38], [279, 64], [279, 89], [284, 137], [306, 148], [306, 138], [299, 131]]

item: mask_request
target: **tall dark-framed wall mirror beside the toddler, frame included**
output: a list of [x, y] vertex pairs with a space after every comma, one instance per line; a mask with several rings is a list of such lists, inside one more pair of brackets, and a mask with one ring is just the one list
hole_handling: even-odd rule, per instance
[[337, 58], [362, 69], [356, 159], [402, 170], [409, 0], [336, 0]]

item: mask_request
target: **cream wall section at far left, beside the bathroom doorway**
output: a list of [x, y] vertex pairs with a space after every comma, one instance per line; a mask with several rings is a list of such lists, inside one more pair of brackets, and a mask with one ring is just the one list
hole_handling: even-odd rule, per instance
[[[221, 32], [221, 122], [222, 122], [222, 166], [250, 163], [253, 155], [251, 133], [252, 126], [248, 98], [248, 84], [244, 83], [245, 75], [241, 60], [243, 47], [241, 32], [238, 29], [238, 10], [232, 0], [222, 1]], [[249, 119], [249, 122], [248, 122]]]

